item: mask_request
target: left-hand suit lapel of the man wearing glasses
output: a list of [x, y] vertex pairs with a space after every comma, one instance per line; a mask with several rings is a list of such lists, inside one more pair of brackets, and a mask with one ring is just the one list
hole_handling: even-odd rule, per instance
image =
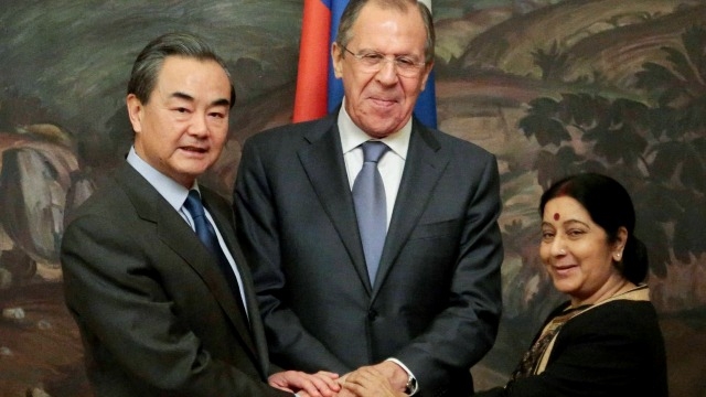
[[371, 292], [336, 118], [331, 116], [327, 120], [329, 122], [318, 124], [318, 128], [307, 135], [310, 146], [299, 151], [299, 159], [319, 201], [341, 236], [361, 281]]

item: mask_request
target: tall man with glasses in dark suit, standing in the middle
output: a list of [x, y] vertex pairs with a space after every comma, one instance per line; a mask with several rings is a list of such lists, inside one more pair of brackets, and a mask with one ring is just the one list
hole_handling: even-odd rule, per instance
[[[495, 159], [413, 117], [434, 61], [424, 4], [352, 0], [332, 58], [340, 110], [254, 136], [238, 170], [238, 238], [270, 358], [339, 374], [373, 365], [396, 390], [470, 395], [502, 308]], [[371, 140], [385, 143], [375, 205], [356, 198]], [[375, 219], [383, 236], [370, 238], [361, 228]]]

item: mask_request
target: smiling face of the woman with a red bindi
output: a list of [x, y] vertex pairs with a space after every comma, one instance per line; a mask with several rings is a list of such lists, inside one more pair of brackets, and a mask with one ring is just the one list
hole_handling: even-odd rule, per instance
[[573, 305], [609, 298], [627, 280], [613, 266], [627, 240], [621, 227], [614, 243], [575, 198], [559, 196], [547, 202], [542, 216], [539, 256], [554, 287], [571, 297]]

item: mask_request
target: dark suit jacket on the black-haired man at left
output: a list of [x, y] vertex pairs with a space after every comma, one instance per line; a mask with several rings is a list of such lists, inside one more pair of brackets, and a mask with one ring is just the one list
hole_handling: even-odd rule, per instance
[[201, 187], [238, 264], [252, 325], [195, 234], [125, 163], [66, 227], [66, 304], [97, 396], [290, 396], [267, 386], [267, 347], [233, 212]]

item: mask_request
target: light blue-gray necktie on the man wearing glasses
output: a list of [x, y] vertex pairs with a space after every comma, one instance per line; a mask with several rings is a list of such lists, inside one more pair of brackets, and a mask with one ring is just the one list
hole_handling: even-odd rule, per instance
[[353, 203], [363, 242], [367, 276], [371, 285], [374, 285], [387, 235], [387, 200], [377, 161], [389, 147], [379, 141], [367, 141], [362, 147], [363, 168], [353, 182]]

